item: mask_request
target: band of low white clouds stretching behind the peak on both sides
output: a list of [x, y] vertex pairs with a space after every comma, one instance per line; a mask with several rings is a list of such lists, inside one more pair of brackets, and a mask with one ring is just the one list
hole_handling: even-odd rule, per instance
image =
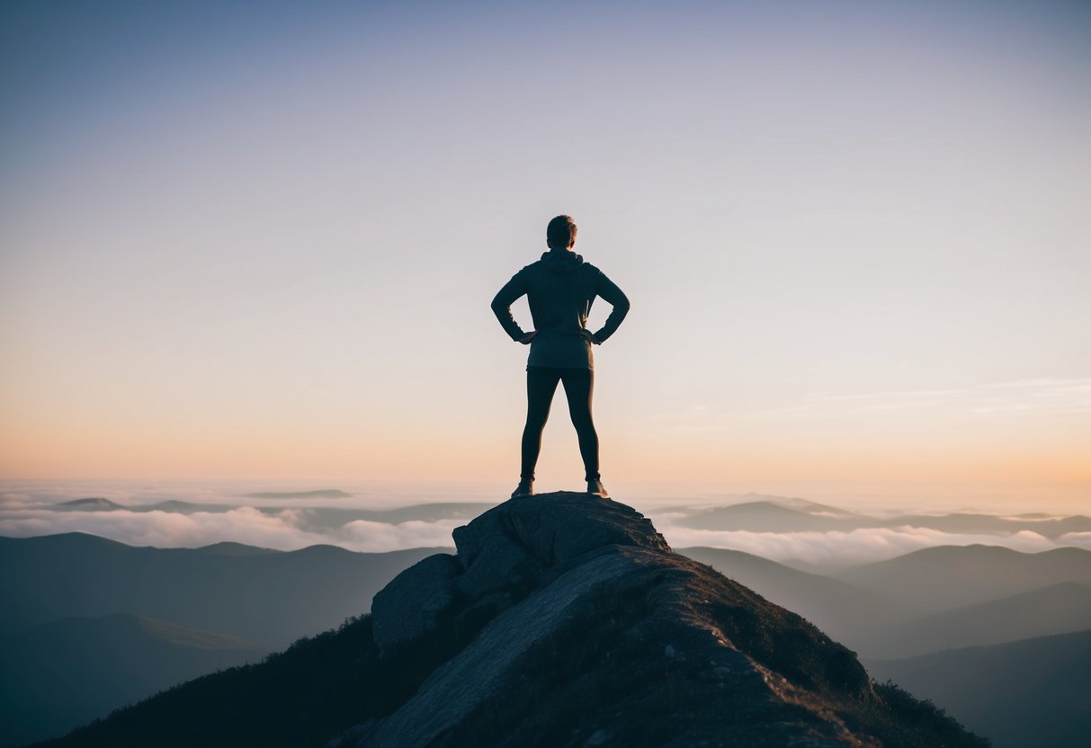
[[[350, 551], [385, 552], [411, 547], [453, 546], [451, 533], [466, 520], [432, 519], [382, 522], [355, 519], [328, 529], [315, 529], [309, 512], [316, 506], [377, 509], [425, 503], [421, 497], [397, 497], [360, 492], [345, 499], [284, 500], [245, 497], [245, 491], [213, 486], [63, 485], [15, 486], [0, 491], [0, 535], [26, 538], [62, 532], [86, 532], [129, 545], [200, 547], [236, 542], [280, 551], [332, 544]], [[163, 500], [208, 504], [209, 510], [177, 511], [59, 511], [55, 505], [72, 498], [103, 496], [127, 506]], [[461, 496], [464, 500], [484, 500]], [[449, 500], [449, 497], [447, 497]], [[212, 506], [217, 505], [217, 506]], [[259, 507], [264, 507], [265, 511]], [[892, 558], [937, 545], [1002, 545], [1024, 553], [1062, 546], [1091, 550], [1091, 533], [1074, 532], [1051, 540], [1023, 530], [1011, 534], [962, 534], [928, 527], [867, 528], [830, 532], [712, 531], [674, 523], [676, 511], [646, 509], [657, 529], [675, 548], [710, 546], [744, 551], [777, 562], [815, 565], [860, 564]]]

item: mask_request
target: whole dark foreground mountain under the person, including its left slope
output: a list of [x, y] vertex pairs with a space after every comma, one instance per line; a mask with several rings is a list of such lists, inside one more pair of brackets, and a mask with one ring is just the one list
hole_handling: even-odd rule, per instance
[[512, 499], [455, 542], [371, 617], [52, 745], [984, 745], [624, 505]]

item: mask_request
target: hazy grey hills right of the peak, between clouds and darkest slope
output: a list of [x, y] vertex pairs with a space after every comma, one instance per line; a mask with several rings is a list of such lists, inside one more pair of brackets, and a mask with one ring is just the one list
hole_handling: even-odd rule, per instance
[[[1091, 552], [927, 548], [840, 578], [721, 548], [680, 548], [871, 657], [1091, 628]], [[997, 558], [1002, 559], [997, 563]], [[950, 574], [945, 574], [949, 569]], [[1019, 590], [1009, 594], [1012, 590]], [[984, 602], [971, 602], [986, 598]]]

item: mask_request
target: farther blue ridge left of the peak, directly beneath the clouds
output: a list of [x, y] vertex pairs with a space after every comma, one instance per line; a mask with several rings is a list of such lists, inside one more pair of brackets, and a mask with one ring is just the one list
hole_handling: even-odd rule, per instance
[[277, 649], [360, 613], [360, 600], [431, 553], [247, 547], [132, 547], [83, 533], [0, 538], [0, 632], [130, 613]]

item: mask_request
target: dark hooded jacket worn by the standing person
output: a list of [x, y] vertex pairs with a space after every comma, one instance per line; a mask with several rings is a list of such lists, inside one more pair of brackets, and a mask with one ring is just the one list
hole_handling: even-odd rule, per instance
[[595, 333], [607, 340], [628, 313], [628, 299], [616, 285], [590, 263], [566, 249], [552, 248], [541, 260], [512, 276], [492, 300], [492, 311], [512, 340], [526, 333], [512, 316], [512, 304], [523, 294], [538, 333], [530, 341], [527, 366], [595, 369], [591, 343], [580, 334], [596, 297], [613, 306], [602, 328]]

